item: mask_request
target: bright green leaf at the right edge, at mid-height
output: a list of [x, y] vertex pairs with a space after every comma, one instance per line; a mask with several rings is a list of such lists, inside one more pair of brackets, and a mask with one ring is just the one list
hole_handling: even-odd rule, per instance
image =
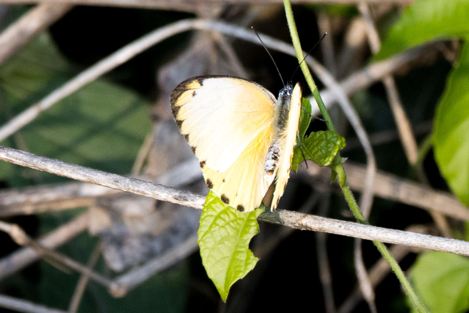
[[469, 206], [469, 44], [462, 47], [439, 101], [432, 142], [435, 160], [451, 190]]

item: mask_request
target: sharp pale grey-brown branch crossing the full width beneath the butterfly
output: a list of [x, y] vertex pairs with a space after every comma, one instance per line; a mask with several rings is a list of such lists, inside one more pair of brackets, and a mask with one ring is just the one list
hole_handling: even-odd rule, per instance
[[[155, 183], [85, 168], [3, 146], [0, 146], [0, 160], [183, 206], [201, 209], [204, 204], [204, 196], [189, 191], [181, 191]], [[259, 216], [259, 221], [271, 222], [295, 229], [324, 231], [348, 237], [469, 255], [469, 242], [466, 241], [339, 221], [294, 211], [264, 212]]]

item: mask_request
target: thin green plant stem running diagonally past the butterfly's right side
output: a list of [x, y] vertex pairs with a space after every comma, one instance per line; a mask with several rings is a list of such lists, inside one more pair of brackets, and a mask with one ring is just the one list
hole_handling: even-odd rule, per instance
[[[298, 31], [296, 30], [295, 20], [293, 18], [293, 12], [292, 12], [290, 1], [283, 0], [283, 5], [285, 7], [288, 28], [290, 30], [290, 36], [292, 38], [293, 46], [295, 47], [296, 57], [298, 58], [298, 61], [301, 62], [303, 61], [303, 58], [304, 58], [303, 49], [301, 48], [300, 39], [298, 37]], [[308, 69], [307, 64], [305, 62], [302, 62], [300, 65], [300, 68], [303, 71], [303, 75], [306, 78], [306, 82], [308, 83], [310, 87], [310, 90], [314, 96], [314, 99], [316, 99], [316, 102], [318, 103], [319, 110], [321, 111], [321, 114], [323, 115], [326, 121], [327, 128], [329, 130], [335, 131], [331, 118], [329, 114], [327, 113], [327, 109], [325, 108], [324, 102], [321, 99], [321, 96], [319, 95], [318, 87], [313, 81], [313, 77], [310, 73], [310, 70]], [[355, 215], [356, 220], [363, 224], [369, 224], [366, 218], [360, 212], [360, 208], [356, 204], [356, 200], [352, 194], [352, 191], [350, 191], [350, 188], [348, 187], [345, 171], [342, 165], [340, 164], [340, 162], [334, 165], [332, 169], [335, 171], [337, 175], [337, 180], [339, 181], [340, 188], [342, 189], [344, 198], [347, 201], [347, 204], [350, 207], [350, 210]], [[373, 241], [373, 244], [378, 248], [378, 251], [381, 253], [383, 258], [385, 258], [386, 261], [389, 263], [390, 267], [392, 268], [394, 274], [397, 276], [397, 279], [399, 279], [399, 281], [401, 282], [402, 287], [404, 288], [408, 297], [412, 301], [412, 304], [416, 308], [417, 312], [428, 313], [428, 311], [425, 309], [420, 299], [417, 297], [415, 291], [412, 289], [412, 286], [408, 282], [408, 279], [404, 275], [404, 272], [402, 271], [401, 267], [399, 266], [397, 261], [394, 260], [393, 256], [387, 250], [386, 246], [382, 242], [379, 242], [379, 241]]]

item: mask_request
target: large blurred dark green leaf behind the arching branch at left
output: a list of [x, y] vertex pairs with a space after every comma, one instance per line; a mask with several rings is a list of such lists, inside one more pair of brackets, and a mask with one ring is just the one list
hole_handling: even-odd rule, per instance
[[[76, 74], [47, 33], [32, 39], [0, 67], [0, 124], [60, 87]], [[96, 80], [45, 110], [2, 142], [31, 153], [127, 174], [151, 130], [149, 103], [136, 92]], [[63, 178], [0, 162], [0, 180], [10, 185]]]

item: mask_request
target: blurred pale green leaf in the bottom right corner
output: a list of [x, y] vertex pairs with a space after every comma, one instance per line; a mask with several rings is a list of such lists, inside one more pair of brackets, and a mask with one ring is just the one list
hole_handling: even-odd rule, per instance
[[465, 257], [426, 252], [412, 266], [410, 280], [431, 313], [469, 309], [469, 260]]

